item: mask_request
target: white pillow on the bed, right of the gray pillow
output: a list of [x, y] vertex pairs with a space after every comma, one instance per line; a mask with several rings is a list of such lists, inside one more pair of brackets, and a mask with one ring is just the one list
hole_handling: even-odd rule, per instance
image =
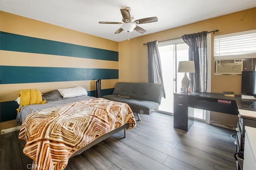
[[57, 90], [60, 92], [63, 98], [74, 98], [74, 97], [84, 96], [88, 94], [86, 89], [81, 86], [76, 86], [73, 88], [62, 88]]

